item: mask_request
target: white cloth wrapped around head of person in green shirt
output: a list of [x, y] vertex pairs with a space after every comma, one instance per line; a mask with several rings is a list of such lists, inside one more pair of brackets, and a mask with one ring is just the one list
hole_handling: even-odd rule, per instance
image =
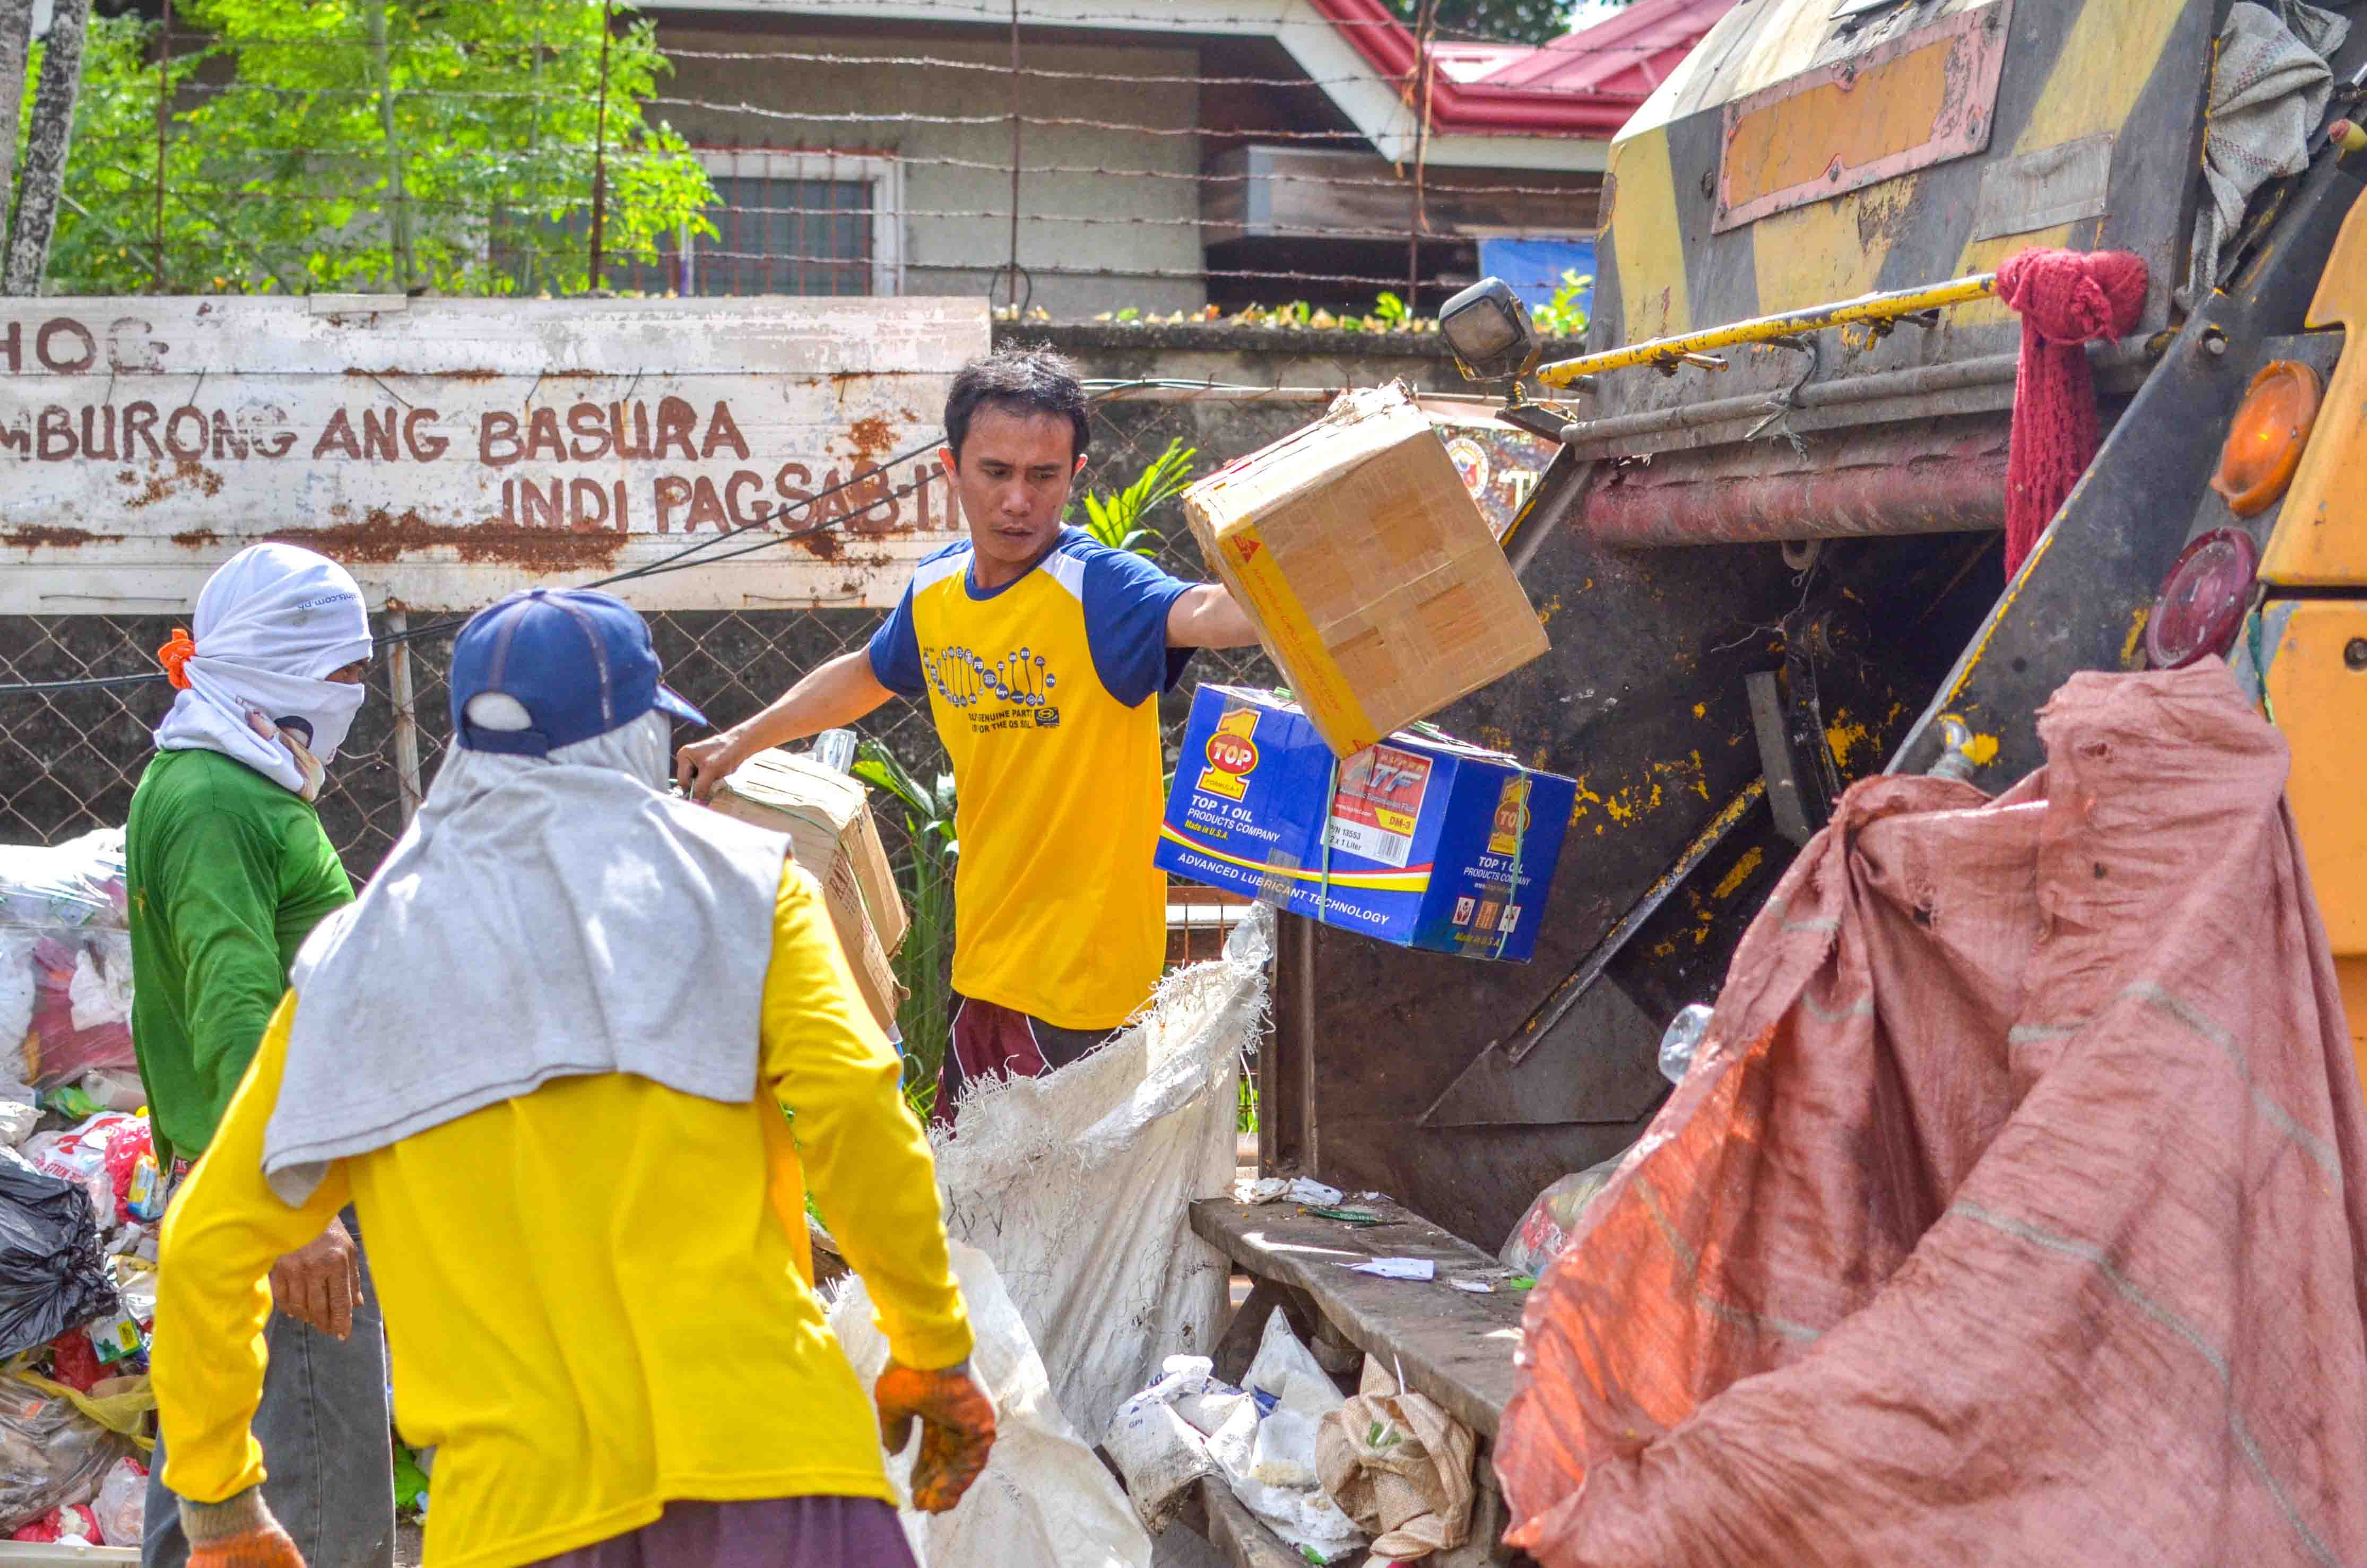
[[[159, 751], [220, 751], [308, 801], [346, 744], [362, 687], [322, 680], [369, 658], [362, 587], [296, 545], [249, 545], [206, 578], [189, 687], [156, 725]], [[260, 720], [260, 725], [258, 725]]]

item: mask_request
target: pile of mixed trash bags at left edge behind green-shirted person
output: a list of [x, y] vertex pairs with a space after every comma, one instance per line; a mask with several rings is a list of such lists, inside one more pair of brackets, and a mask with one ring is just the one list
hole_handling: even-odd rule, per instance
[[163, 1180], [123, 834], [0, 848], [0, 1535], [133, 1547]]

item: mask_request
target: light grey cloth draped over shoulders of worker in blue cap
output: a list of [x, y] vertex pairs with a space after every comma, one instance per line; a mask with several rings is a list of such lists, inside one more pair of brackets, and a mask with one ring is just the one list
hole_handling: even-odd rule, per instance
[[554, 1078], [755, 1094], [788, 838], [667, 796], [670, 744], [651, 711], [547, 758], [445, 753], [362, 898], [296, 957], [272, 1191], [303, 1203], [329, 1161]]

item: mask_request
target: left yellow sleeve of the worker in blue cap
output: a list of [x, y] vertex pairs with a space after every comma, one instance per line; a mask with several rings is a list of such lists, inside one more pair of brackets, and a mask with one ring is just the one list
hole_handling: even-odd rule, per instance
[[348, 1201], [331, 1163], [303, 1208], [263, 1180], [263, 1127], [279, 1104], [296, 992], [279, 1002], [246, 1078], [189, 1180], [173, 1194], [156, 1265], [149, 1376], [163, 1428], [163, 1483], [189, 1502], [222, 1502], [263, 1480], [249, 1424], [263, 1400], [263, 1329], [272, 1265], [320, 1236]]

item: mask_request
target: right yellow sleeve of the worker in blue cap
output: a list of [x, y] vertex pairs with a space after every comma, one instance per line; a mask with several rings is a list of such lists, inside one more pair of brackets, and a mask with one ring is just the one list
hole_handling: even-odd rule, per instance
[[904, 1063], [854, 990], [821, 888], [795, 865], [774, 907], [762, 1073], [791, 1113], [814, 1210], [871, 1289], [888, 1350], [923, 1371], [968, 1357], [937, 1163], [904, 1104]]

